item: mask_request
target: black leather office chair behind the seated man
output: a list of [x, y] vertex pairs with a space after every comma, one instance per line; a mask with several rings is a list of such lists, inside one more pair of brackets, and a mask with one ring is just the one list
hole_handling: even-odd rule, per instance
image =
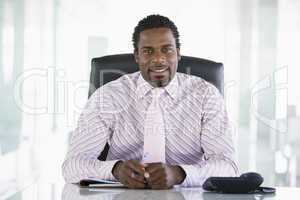
[[[118, 54], [93, 58], [89, 97], [97, 88], [105, 83], [138, 70], [139, 68], [133, 54]], [[181, 56], [177, 71], [199, 76], [216, 86], [222, 95], [224, 94], [224, 68], [222, 63], [190, 56]], [[109, 145], [106, 144], [98, 159], [106, 160], [108, 150]]]

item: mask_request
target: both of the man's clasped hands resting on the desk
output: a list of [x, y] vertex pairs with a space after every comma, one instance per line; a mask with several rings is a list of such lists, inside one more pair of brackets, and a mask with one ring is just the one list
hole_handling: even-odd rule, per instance
[[185, 178], [185, 172], [177, 165], [141, 164], [138, 160], [119, 161], [113, 169], [113, 175], [132, 189], [169, 189]]

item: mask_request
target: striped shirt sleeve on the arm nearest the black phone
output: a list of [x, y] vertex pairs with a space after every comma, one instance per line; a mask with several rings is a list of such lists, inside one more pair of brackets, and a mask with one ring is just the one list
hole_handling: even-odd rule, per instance
[[202, 186], [210, 176], [237, 176], [233, 131], [223, 97], [209, 87], [203, 101], [201, 148], [203, 159], [193, 165], [180, 165], [186, 173], [181, 186]]

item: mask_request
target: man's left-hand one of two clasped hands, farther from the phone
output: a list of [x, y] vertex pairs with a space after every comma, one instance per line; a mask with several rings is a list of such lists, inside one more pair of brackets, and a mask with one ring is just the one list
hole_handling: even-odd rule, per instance
[[145, 167], [137, 160], [119, 161], [113, 168], [113, 175], [128, 188], [145, 188]]

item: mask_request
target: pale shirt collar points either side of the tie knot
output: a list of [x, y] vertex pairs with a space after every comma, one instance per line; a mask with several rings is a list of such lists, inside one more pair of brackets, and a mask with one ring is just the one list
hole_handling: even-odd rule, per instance
[[[137, 80], [137, 95], [138, 98], [143, 98], [147, 95], [148, 92], [150, 92], [154, 87], [150, 85], [142, 76], [142, 74], [139, 74], [139, 78]], [[178, 79], [177, 79], [177, 73], [175, 73], [173, 79], [171, 82], [164, 87], [165, 91], [173, 98], [176, 98], [177, 91], [178, 91]]]

